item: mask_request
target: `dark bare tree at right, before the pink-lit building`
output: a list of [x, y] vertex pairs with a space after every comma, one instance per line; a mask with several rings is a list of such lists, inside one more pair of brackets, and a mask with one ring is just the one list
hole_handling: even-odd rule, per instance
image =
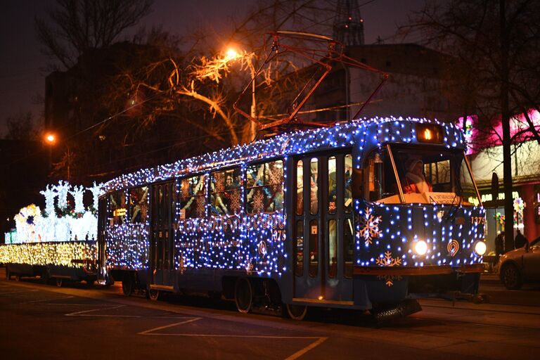
[[[461, 103], [463, 119], [479, 117], [478, 130], [486, 139], [499, 136], [503, 144], [505, 228], [513, 229], [511, 146], [527, 139], [540, 143], [539, 129], [528, 117], [529, 109], [540, 105], [539, 2], [428, 1], [409, 25], [401, 27], [404, 34], [412, 31], [422, 32], [427, 44], [461, 61], [464, 72], [454, 80], [468, 94]], [[510, 121], [520, 113], [525, 114], [524, 129], [510, 136]], [[498, 117], [502, 134], [495, 130]], [[506, 239], [510, 250], [512, 231], [506, 231]]]

